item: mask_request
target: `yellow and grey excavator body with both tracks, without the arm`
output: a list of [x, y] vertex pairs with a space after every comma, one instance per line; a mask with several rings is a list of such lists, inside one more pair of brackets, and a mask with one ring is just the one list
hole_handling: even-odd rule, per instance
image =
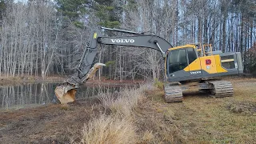
[[190, 44], [168, 49], [166, 54], [165, 86], [166, 102], [182, 102], [182, 91], [191, 87], [210, 91], [214, 97], [233, 95], [233, 86], [218, 78], [242, 74], [242, 58], [239, 52], [213, 51], [210, 44]]

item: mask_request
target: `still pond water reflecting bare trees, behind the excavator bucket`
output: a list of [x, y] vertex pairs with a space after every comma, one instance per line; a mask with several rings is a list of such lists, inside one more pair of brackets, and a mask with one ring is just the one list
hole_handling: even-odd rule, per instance
[[[0, 110], [21, 109], [31, 106], [42, 106], [49, 103], [58, 103], [54, 94], [58, 83], [34, 83], [20, 86], [0, 87]], [[124, 86], [82, 86], [78, 89], [76, 98], [84, 99], [96, 96], [99, 93], [114, 93]], [[129, 87], [129, 86], [128, 86]]]

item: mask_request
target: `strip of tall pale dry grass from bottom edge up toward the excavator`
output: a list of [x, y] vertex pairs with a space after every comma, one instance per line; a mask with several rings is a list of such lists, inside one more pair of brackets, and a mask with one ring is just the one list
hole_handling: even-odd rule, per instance
[[135, 143], [138, 141], [134, 125], [134, 109], [145, 98], [144, 91], [153, 86], [125, 89], [118, 94], [101, 94], [100, 101], [110, 114], [92, 118], [82, 130], [82, 143]]

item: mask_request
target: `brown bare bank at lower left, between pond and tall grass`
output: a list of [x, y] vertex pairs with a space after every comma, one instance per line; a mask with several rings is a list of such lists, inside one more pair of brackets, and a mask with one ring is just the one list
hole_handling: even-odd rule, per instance
[[68, 143], [102, 111], [97, 101], [0, 112], [0, 143]]

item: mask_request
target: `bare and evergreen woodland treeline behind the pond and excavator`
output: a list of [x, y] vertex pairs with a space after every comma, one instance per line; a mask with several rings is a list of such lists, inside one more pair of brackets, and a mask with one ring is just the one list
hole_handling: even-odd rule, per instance
[[[100, 26], [156, 34], [173, 46], [211, 43], [240, 51], [247, 72], [256, 67], [254, 0], [0, 0], [0, 74], [69, 75]], [[102, 34], [120, 35], [105, 31]], [[99, 75], [110, 79], [162, 78], [157, 51], [100, 46]]]

